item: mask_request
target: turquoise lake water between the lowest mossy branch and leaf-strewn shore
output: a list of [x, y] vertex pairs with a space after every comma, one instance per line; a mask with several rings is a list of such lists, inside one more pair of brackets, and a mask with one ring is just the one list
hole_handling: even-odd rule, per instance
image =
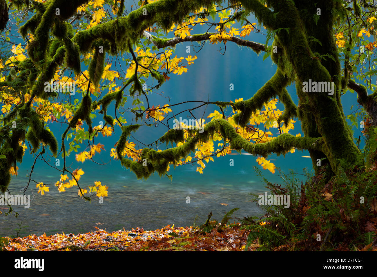
[[[290, 159], [293, 159], [294, 153]], [[301, 158], [297, 153], [297, 158]], [[81, 167], [85, 174], [80, 179], [82, 186], [101, 181], [109, 187], [109, 196], [100, 204], [98, 197], [86, 202], [77, 196], [77, 187], [59, 193], [53, 185], [44, 196], [37, 194], [35, 184], [29, 186], [26, 194], [35, 194], [30, 208], [14, 206], [19, 216], [0, 215], [0, 236], [15, 235], [17, 223], [23, 222], [20, 235], [31, 233], [41, 235], [55, 233], [83, 233], [93, 226], [107, 231], [143, 227], [155, 230], [168, 224], [190, 226], [195, 217], [202, 223], [211, 211], [213, 218], [221, 220], [224, 212], [240, 208], [234, 216], [258, 216], [262, 211], [256, 203], [250, 202], [250, 193], [264, 193], [264, 185], [255, 176], [251, 165], [255, 158], [248, 155], [232, 155], [236, 166], [229, 166], [228, 157], [218, 158], [207, 165], [204, 174], [195, 172], [195, 167], [183, 166], [172, 171], [173, 181], [152, 176], [147, 181], [137, 181], [133, 173], [124, 170], [117, 162], [100, 166], [85, 162]], [[288, 156], [287, 158], [288, 159]], [[308, 159], [301, 158], [304, 161]], [[307, 161], [308, 162], [308, 161]], [[275, 161], [284, 166], [284, 158]], [[80, 167], [80, 168], [81, 168]], [[288, 172], [288, 168], [285, 168]], [[9, 191], [18, 194], [28, 179], [19, 171], [12, 180]], [[264, 172], [271, 182], [281, 182], [275, 174]], [[40, 164], [35, 168], [34, 180], [54, 184], [59, 173]], [[190, 204], [186, 203], [190, 197]], [[220, 203], [228, 204], [228, 206]], [[98, 224], [96, 223], [103, 223]]]

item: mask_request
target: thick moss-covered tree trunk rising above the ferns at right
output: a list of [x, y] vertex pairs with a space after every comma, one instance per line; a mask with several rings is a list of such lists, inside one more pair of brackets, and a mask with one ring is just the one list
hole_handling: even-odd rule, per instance
[[[301, 1], [296, 1], [296, 5], [289, 1], [272, 2], [273, 8], [279, 10], [277, 22], [287, 28], [278, 32], [277, 38], [296, 72], [303, 133], [309, 137], [322, 136], [325, 142], [323, 154], [310, 152], [313, 166], [317, 169], [317, 159], [323, 155], [333, 171], [342, 162], [351, 165], [356, 162], [359, 150], [340, 103], [341, 67], [333, 34], [336, 2], [323, 0], [317, 5]], [[316, 12], [320, 14], [317, 22], [313, 19]], [[321, 55], [331, 57], [321, 58]]]

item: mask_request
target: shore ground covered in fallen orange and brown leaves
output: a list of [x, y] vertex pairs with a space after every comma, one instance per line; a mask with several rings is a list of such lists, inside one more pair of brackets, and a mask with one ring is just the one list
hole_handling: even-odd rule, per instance
[[[247, 234], [238, 224], [220, 232], [200, 233], [190, 227], [171, 225], [155, 231], [136, 228], [109, 233], [98, 227], [85, 234], [55, 234], [8, 238], [8, 251], [243, 251]], [[259, 245], [251, 245], [249, 251]]]

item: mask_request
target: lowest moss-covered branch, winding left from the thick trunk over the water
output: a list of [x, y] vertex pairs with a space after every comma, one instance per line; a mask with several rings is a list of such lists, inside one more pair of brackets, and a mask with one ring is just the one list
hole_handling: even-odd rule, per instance
[[[269, 142], [254, 144], [240, 136], [227, 120], [217, 119], [207, 123], [202, 133], [196, 133], [195, 136], [187, 139], [187, 141], [180, 146], [168, 148], [161, 152], [151, 148], [144, 148], [139, 156], [139, 161], [123, 158], [121, 156], [121, 150], [123, 150], [125, 146], [127, 137], [130, 135], [130, 132], [138, 129], [139, 126], [140, 125], [130, 125], [123, 127], [122, 130], [124, 132], [117, 146], [118, 158], [121, 164], [133, 171], [139, 179], [149, 178], [155, 171], [160, 176], [163, 176], [166, 174], [169, 164], [176, 165], [176, 162], [181, 158], [185, 158], [191, 152], [195, 151], [198, 142], [205, 143], [212, 139], [215, 132], [220, 133], [224, 139], [230, 141], [231, 149], [238, 151], [243, 149], [252, 155], [261, 155], [264, 157], [267, 157], [271, 153], [285, 155], [285, 153], [290, 151], [293, 147], [299, 150], [312, 149], [317, 151], [321, 151], [323, 147], [322, 138], [296, 137], [287, 133], [281, 134]], [[182, 141], [183, 130], [170, 130], [168, 133], [170, 133], [170, 135], [165, 134], [160, 138], [161, 142], [176, 143]], [[143, 162], [141, 162], [144, 159], [147, 161], [146, 165], [143, 165]]]

